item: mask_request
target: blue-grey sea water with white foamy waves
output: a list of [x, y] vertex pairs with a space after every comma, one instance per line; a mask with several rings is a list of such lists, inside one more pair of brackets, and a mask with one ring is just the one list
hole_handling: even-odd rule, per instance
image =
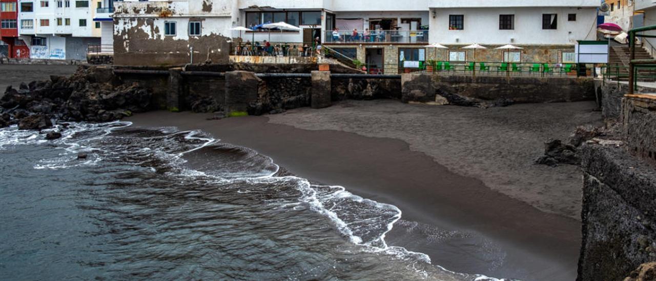
[[0, 174], [0, 280], [497, 280], [388, 246], [394, 205], [200, 131], [0, 129]]

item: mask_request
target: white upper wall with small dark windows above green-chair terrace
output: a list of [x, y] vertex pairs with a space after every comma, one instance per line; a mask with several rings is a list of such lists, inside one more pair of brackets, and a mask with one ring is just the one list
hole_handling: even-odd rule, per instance
[[[430, 19], [430, 42], [442, 44], [566, 45], [596, 38], [592, 8], [470, 8], [435, 9]], [[575, 22], [567, 14], [577, 14]], [[464, 30], [449, 30], [449, 14], [464, 15]], [[499, 30], [499, 15], [514, 14], [514, 30]], [[542, 15], [558, 14], [558, 29], [543, 30]], [[511, 40], [512, 39], [512, 40]]]

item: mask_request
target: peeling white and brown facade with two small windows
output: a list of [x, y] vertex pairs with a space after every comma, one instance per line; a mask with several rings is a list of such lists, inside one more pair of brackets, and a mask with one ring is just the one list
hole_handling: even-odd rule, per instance
[[[176, 66], [229, 62], [230, 1], [117, 2], [114, 64]], [[192, 24], [195, 23], [195, 24]], [[197, 23], [197, 24], [196, 24]]]

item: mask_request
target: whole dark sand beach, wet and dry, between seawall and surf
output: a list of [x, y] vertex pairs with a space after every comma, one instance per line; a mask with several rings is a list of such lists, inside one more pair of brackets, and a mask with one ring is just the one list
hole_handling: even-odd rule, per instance
[[[403, 217], [388, 233], [388, 244], [426, 253], [432, 263], [446, 269], [523, 280], [573, 280], [581, 233], [573, 215], [580, 209], [581, 179], [575, 176], [580, 173], [573, 166], [554, 169], [531, 161], [533, 154], [541, 153], [547, 135], [564, 138], [580, 122], [598, 121], [593, 107], [579, 102], [481, 110], [377, 100], [266, 117], [216, 121], [207, 120], [207, 114], [148, 112], [128, 121], [144, 127], [201, 129], [221, 141], [270, 156], [300, 177], [345, 186], [359, 196], [394, 204]], [[433, 135], [439, 133], [420, 129], [426, 120], [447, 116], [455, 133]], [[555, 123], [545, 121], [550, 118]], [[472, 125], [476, 123], [480, 125]], [[354, 130], [361, 135], [348, 132]], [[398, 137], [409, 135], [407, 130], [415, 130], [414, 137], [426, 144], [442, 145], [417, 149], [413, 140]], [[364, 136], [371, 132], [397, 137]], [[510, 137], [497, 139], [498, 135]], [[529, 153], [536, 147], [537, 151]], [[460, 150], [469, 155], [462, 156]], [[430, 151], [460, 159], [458, 169], [468, 167], [476, 174], [483, 167], [495, 171], [495, 177], [457, 173], [458, 169], [440, 161], [451, 158], [438, 158]], [[482, 161], [488, 154], [493, 159]], [[503, 190], [491, 187], [495, 182], [489, 179], [503, 173], [512, 183]], [[531, 181], [553, 181], [540, 183], [538, 190], [544, 184], [555, 188], [535, 192], [535, 186], [523, 185]], [[526, 197], [532, 200], [521, 199]], [[538, 209], [544, 205], [555, 206], [554, 211]]]

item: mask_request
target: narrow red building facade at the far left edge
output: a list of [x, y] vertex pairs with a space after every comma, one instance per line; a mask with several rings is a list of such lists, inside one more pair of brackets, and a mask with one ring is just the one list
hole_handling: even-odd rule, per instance
[[18, 1], [0, 0], [0, 40], [7, 43], [7, 56], [29, 58], [30, 48], [18, 38]]

